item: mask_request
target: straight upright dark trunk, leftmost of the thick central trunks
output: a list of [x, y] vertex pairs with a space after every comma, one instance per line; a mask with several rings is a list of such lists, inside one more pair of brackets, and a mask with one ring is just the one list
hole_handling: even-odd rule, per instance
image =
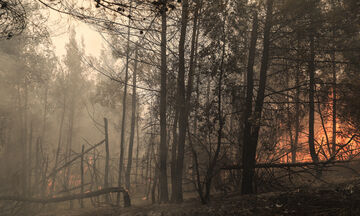
[[168, 202], [167, 183], [167, 139], [166, 139], [166, 33], [167, 33], [167, 0], [163, 0], [161, 8], [161, 87], [160, 87], [160, 202]]

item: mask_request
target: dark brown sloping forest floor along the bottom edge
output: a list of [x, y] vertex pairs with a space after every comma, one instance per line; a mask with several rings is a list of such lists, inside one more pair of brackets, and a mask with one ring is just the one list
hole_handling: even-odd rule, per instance
[[182, 204], [146, 201], [130, 208], [99, 207], [46, 213], [41, 216], [220, 216], [220, 215], [360, 215], [360, 178], [286, 192], [216, 194], [207, 205], [196, 198]]

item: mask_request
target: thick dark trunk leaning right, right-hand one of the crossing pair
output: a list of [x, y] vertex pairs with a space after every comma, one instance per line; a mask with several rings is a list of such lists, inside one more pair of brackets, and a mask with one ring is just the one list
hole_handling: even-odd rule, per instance
[[250, 129], [250, 140], [246, 140], [244, 143], [243, 152], [243, 181], [242, 181], [242, 193], [249, 194], [253, 193], [253, 178], [255, 174], [256, 164], [256, 148], [259, 138], [261, 114], [265, 98], [265, 87], [267, 78], [267, 69], [269, 63], [269, 49], [270, 49], [270, 31], [272, 27], [272, 14], [273, 11], [273, 0], [268, 0], [266, 4], [266, 20], [264, 27], [264, 41], [263, 41], [263, 53], [260, 67], [260, 81], [259, 90], [255, 102], [255, 111], [253, 114], [254, 123], [253, 128]]

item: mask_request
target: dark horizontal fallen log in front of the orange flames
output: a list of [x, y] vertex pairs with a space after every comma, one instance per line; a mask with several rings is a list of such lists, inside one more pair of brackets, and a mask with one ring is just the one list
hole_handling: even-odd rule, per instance
[[[352, 160], [353, 161], [353, 160]], [[336, 163], [349, 163], [350, 160], [328, 160], [318, 163], [314, 162], [304, 162], [304, 163], [258, 163], [255, 165], [255, 168], [293, 168], [293, 167], [307, 167], [307, 166], [326, 166]], [[242, 165], [231, 165], [221, 168], [222, 170], [233, 170], [233, 169], [243, 169]]]

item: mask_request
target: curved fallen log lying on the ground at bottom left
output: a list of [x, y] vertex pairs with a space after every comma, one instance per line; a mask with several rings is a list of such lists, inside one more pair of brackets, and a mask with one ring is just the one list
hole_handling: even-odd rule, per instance
[[116, 192], [128, 194], [127, 191], [124, 190], [123, 188], [112, 187], [97, 191], [91, 191], [83, 194], [73, 194], [62, 197], [34, 198], [34, 197], [19, 197], [19, 196], [0, 196], [0, 200], [47, 204], [47, 203], [56, 203], [56, 202], [64, 202], [69, 200], [90, 198], [90, 197], [100, 196], [109, 193], [116, 193]]

